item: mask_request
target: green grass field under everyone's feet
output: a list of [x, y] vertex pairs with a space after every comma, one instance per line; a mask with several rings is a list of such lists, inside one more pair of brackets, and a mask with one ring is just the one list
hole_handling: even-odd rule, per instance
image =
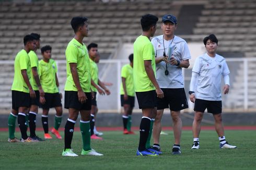
[[[172, 155], [172, 131], [161, 135], [163, 154], [158, 157], [135, 156], [137, 135], [105, 131], [103, 140], [92, 140], [91, 147], [104, 156], [61, 156], [64, 140], [8, 143], [8, 132], [0, 132], [0, 169], [255, 169], [255, 130], [226, 130], [226, 139], [238, 149], [219, 149], [217, 134], [202, 130], [200, 149], [191, 150], [192, 131], [183, 130], [181, 155]], [[19, 131], [16, 132], [20, 137]], [[38, 135], [43, 136], [39, 131]], [[63, 132], [62, 132], [63, 135]], [[82, 139], [74, 132], [72, 148], [80, 154]]]

